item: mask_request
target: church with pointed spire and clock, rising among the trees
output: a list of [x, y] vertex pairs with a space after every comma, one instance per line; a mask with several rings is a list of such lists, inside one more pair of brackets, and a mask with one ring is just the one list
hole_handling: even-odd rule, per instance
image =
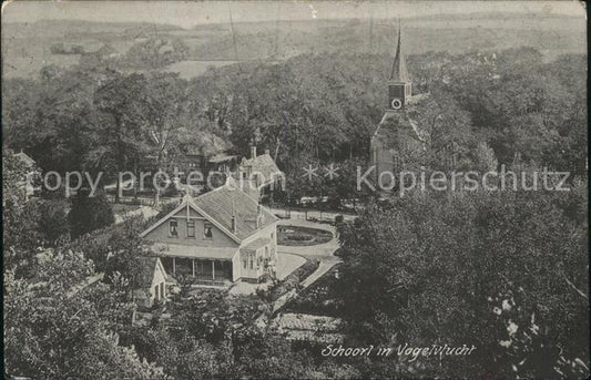
[[380, 193], [396, 191], [399, 173], [418, 168], [425, 151], [425, 136], [408, 116], [409, 106], [416, 104], [421, 96], [412, 96], [400, 28], [387, 85], [386, 111], [371, 136], [369, 152], [370, 166], [375, 167], [373, 179]]

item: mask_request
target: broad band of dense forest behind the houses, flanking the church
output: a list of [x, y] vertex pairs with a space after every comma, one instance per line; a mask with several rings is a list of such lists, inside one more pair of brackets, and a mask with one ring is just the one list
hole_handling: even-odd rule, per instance
[[[104, 172], [105, 181], [145, 160], [157, 167], [163, 156], [247, 155], [257, 145], [286, 172], [291, 198], [337, 196], [340, 183], [289, 181], [307, 164], [337, 163], [355, 173], [367, 162], [390, 61], [387, 54], [308, 54], [212, 68], [191, 81], [100, 65], [48, 66], [37, 80], [4, 84], [4, 143], [23, 148], [43, 170]], [[409, 112], [429, 136], [429, 166], [436, 168], [436, 152], [454, 143], [457, 168], [496, 168], [519, 158], [585, 173], [583, 55], [544, 63], [522, 48], [411, 55], [408, 65], [414, 93], [428, 94]], [[338, 196], [354, 197], [346, 187], [349, 194]]]

